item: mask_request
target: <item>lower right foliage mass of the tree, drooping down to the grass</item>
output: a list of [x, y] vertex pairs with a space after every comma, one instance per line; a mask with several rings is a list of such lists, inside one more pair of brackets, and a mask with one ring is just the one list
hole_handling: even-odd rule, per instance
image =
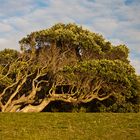
[[[87, 86], [90, 87], [96, 81], [102, 80], [103, 85], [99, 94], [114, 92], [115, 98], [112, 100], [113, 105], [107, 100], [100, 102], [100, 111], [139, 112], [140, 106], [135, 102], [139, 96], [139, 83], [134, 68], [127, 63], [105, 59], [84, 61], [75, 67], [65, 67], [64, 77], [67, 81], [75, 83], [75, 86], [81, 83], [80, 88], [84, 88], [87, 84], [85, 82], [88, 82], [87, 78], [90, 81]], [[86, 88], [86, 92], [90, 92], [90, 90], [91, 88]]]

